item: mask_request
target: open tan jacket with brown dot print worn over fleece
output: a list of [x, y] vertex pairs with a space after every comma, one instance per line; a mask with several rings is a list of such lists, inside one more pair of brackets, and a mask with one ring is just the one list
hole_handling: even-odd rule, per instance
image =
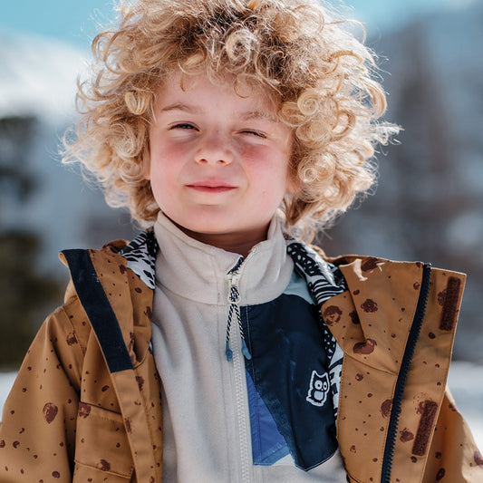
[[[124, 245], [63, 257], [73, 283], [5, 402], [2, 483], [161, 481], [152, 290], [117, 254]], [[345, 353], [337, 437], [348, 480], [483, 481], [483, 459], [445, 392], [464, 275], [331, 261], [349, 286], [322, 307]]]

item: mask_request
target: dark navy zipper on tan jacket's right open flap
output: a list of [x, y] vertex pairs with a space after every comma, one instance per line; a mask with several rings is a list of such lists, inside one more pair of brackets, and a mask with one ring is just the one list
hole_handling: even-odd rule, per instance
[[394, 447], [396, 445], [397, 430], [399, 425], [399, 417], [401, 413], [402, 396], [406, 387], [408, 373], [410, 372], [412, 358], [416, 343], [420, 337], [420, 330], [426, 314], [426, 305], [428, 303], [428, 296], [430, 295], [431, 283], [431, 266], [424, 264], [422, 268], [422, 279], [420, 297], [416, 306], [416, 313], [411, 324], [411, 330], [408, 337], [408, 343], [402, 357], [401, 368], [394, 390], [394, 397], [392, 399], [391, 416], [389, 420], [389, 429], [386, 437], [386, 445], [384, 448], [384, 457], [382, 459], [381, 482], [390, 483], [392, 471], [392, 459], [394, 458]]

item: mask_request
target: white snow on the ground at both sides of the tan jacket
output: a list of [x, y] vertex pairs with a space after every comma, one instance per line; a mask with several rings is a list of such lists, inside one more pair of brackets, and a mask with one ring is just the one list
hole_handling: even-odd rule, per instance
[[[15, 372], [0, 372], [0, 414], [15, 376]], [[478, 448], [483, 450], [483, 366], [452, 362], [448, 384], [459, 411], [469, 423]]]

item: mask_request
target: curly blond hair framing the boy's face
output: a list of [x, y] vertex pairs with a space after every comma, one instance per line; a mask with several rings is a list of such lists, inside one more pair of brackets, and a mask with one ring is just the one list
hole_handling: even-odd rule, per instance
[[353, 23], [312, 0], [136, 0], [120, 11], [119, 27], [92, 43], [92, 79], [77, 95], [82, 118], [63, 156], [101, 181], [111, 206], [129, 207], [145, 227], [157, 217], [145, 179], [149, 129], [155, 92], [176, 69], [230, 74], [275, 98], [295, 138], [298, 189], [281, 207], [286, 227], [326, 226], [372, 187], [375, 146], [397, 128], [377, 121], [385, 93]]

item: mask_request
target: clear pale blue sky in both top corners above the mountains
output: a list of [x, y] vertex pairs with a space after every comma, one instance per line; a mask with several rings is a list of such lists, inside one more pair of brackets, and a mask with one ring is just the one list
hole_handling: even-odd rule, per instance
[[[353, 16], [378, 34], [420, 14], [442, 8], [464, 8], [482, 0], [346, 0]], [[336, 0], [339, 3], [339, 0]], [[99, 24], [108, 24], [115, 0], [5, 0], [0, 31], [51, 37], [89, 48]]]

